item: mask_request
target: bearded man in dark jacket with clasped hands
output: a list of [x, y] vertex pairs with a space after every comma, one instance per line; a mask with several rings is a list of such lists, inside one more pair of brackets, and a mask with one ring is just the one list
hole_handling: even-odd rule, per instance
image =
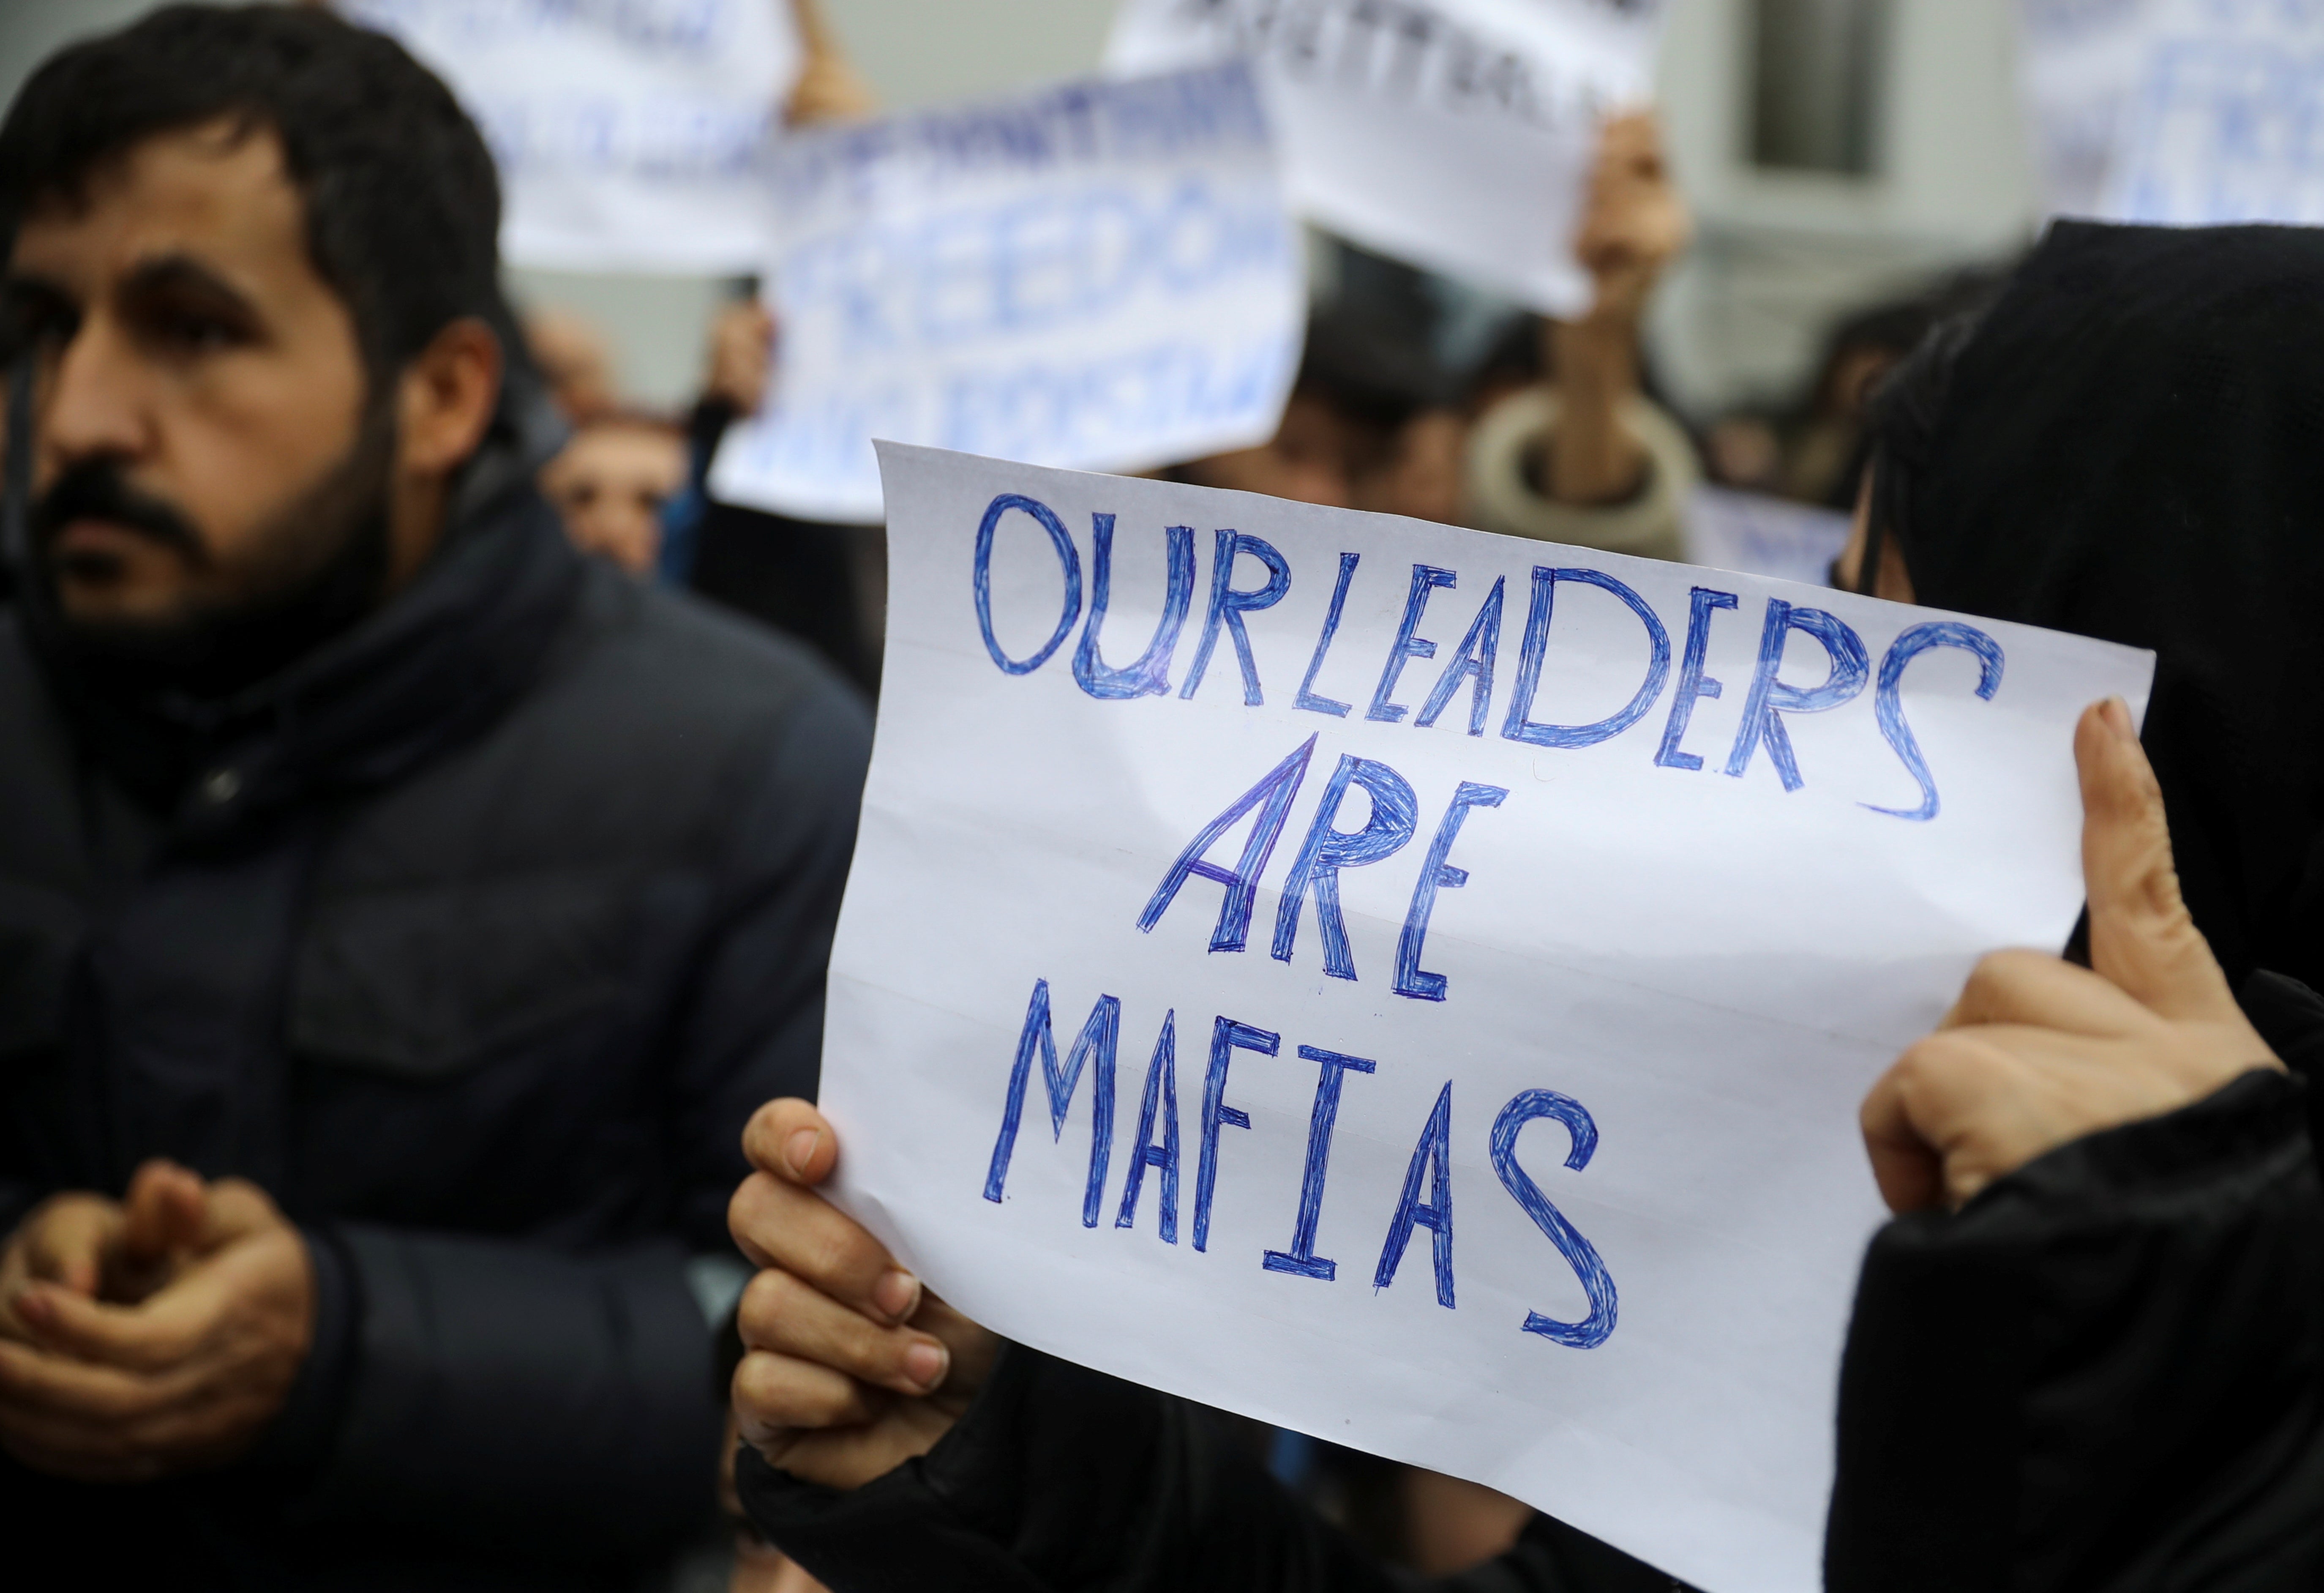
[[28, 1553], [625, 1586], [711, 1509], [734, 1135], [813, 1088], [867, 726], [567, 547], [497, 223], [318, 9], [156, 12], [0, 126]]

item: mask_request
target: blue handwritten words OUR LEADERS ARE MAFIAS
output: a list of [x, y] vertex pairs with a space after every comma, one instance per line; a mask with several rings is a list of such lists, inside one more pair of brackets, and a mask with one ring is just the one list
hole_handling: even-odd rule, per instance
[[[1039, 533], [1037, 540], [1046, 537], [1057, 565], [1060, 595], [1055, 626], [1048, 637], [1025, 656], [1011, 656], [992, 623], [995, 542], [1004, 526], [1011, 523], [1011, 516], [1023, 516], [1020, 523], [1030, 523], [1030, 528]], [[1197, 579], [1199, 537], [1190, 526], [1169, 526], [1162, 530], [1167, 577], [1162, 614], [1155, 621], [1153, 635], [1146, 637], [1146, 647], [1136, 660], [1116, 665], [1106, 663], [1104, 653], [1104, 626], [1113, 591], [1116, 516], [1099, 512], [1092, 514], [1090, 521], [1090, 558], [1085, 579], [1081, 547], [1074, 542], [1064, 521], [1046, 502], [1023, 493], [1002, 493], [985, 507], [974, 540], [971, 600], [978, 633], [992, 663], [1011, 677], [1032, 674], [1055, 658], [1074, 637], [1074, 628], [1081, 626], [1081, 640], [1071, 651], [1069, 670], [1083, 693], [1097, 700], [1136, 700], [1146, 695], [1169, 695], [1176, 691], [1178, 700], [1192, 700], [1211, 672], [1218, 647], [1225, 640], [1234, 651], [1234, 667], [1241, 677], [1239, 684], [1243, 702], [1248, 707], [1262, 707], [1267, 698], [1260, 681], [1257, 658], [1250, 647], [1250, 635], [1246, 630], [1246, 616], [1283, 602], [1292, 588], [1290, 560], [1262, 537], [1234, 528], [1213, 530], [1211, 579], [1202, 626], [1185, 670], [1174, 688], [1171, 667], [1188, 621], [1195, 614], [1197, 588], [1202, 586]], [[1315, 635], [1306, 672], [1292, 695], [1294, 709], [1339, 721], [1355, 714], [1355, 702], [1320, 695], [1315, 691], [1315, 679], [1322, 672], [1325, 660], [1332, 656], [1360, 563], [1360, 553], [1339, 553], [1332, 600]], [[1243, 574], [1250, 584], [1239, 586], [1239, 574]], [[1466, 691], [1466, 733], [1483, 737], [1494, 721], [1494, 695], [1501, 677], [1501, 630], [1508, 605], [1506, 588], [1508, 577], [1494, 577], [1476, 609], [1455, 609], [1455, 623], [1462, 626], [1459, 640], [1450, 647], [1450, 653], [1441, 656], [1443, 649], [1439, 642], [1425, 637], [1422, 628], [1429, 623], [1432, 598], [1459, 591], [1459, 572], [1427, 563], [1411, 565], [1404, 612], [1394, 628], [1394, 640], [1387, 647], [1387, 656], [1380, 660], [1378, 684], [1373, 686], [1362, 716], [1373, 723], [1408, 721], [1415, 728], [1432, 728]], [[1566, 588], [1569, 593], [1594, 588], [1601, 593], [1601, 600], [1620, 602], [1636, 619], [1648, 644], [1645, 670], [1629, 702], [1592, 723], [1538, 723], [1532, 719], [1536, 695], [1541, 691], [1559, 588]], [[1499, 735], [1504, 740], [1541, 749], [1578, 751], [1601, 747], [1645, 721], [1664, 698], [1664, 691], [1671, 688], [1671, 707], [1662, 721], [1662, 735], [1655, 744], [1652, 763], [1678, 772], [1703, 772], [1703, 753], [1687, 751], [1685, 747], [1687, 728], [1694, 705], [1703, 698], [1720, 698], [1727, 688], [1724, 681], [1706, 674], [1710, 626], [1722, 612], [1736, 612], [1738, 605], [1741, 598], [1729, 591], [1710, 586], [1694, 586], [1690, 591], [1685, 640], [1676, 649], [1678, 658], [1673, 686], [1671, 628], [1636, 588], [1604, 570], [1578, 565], [1534, 565], [1529, 591], [1525, 595], [1525, 628], [1518, 642], [1515, 672], [1501, 702]], [[1450, 635], [1450, 626], [1446, 626], [1443, 633]], [[1799, 686], [1783, 679], [1785, 649], [1794, 633], [1806, 635], [1822, 651], [1824, 679], [1813, 686]], [[1729, 777], [1743, 777], [1764, 749], [1785, 791], [1803, 788], [1806, 774], [1799, 767], [1799, 758], [1785, 730], [1785, 714], [1822, 714], [1838, 709], [1859, 698], [1866, 684], [1871, 684], [1875, 726], [1894, 756], [1917, 781], [1920, 802], [1915, 807], [1875, 807], [1866, 802], [1864, 807], [1910, 823], [1934, 821], [1941, 812], [1936, 777], [1931, 774], [1927, 758], [1906, 723], [1901, 695], [1906, 670], [1917, 656], [1931, 649], [1961, 649], [1975, 656], [1975, 691], [1980, 698], [1992, 700], [2001, 688], [2006, 670], [2001, 644], [1975, 626], [1959, 621], [1915, 623], [1889, 644], [1878, 667], [1873, 667], [1864, 640], [1845, 621], [1817, 607], [1794, 605], [1785, 598], [1769, 598], [1766, 612], [1759, 621], [1757, 660], [1743, 695], [1741, 726], [1727, 749], [1722, 765], [1724, 772]], [[1420, 681], [1427, 679], [1427, 672], [1415, 670], [1415, 665], [1432, 665], [1434, 679], [1427, 684], [1425, 693], [1420, 691]], [[1413, 695], [1418, 702], [1399, 702], [1399, 695]], [[1267, 874], [1276, 844], [1283, 840], [1292, 805], [1308, 777], [1311, 763], [1315, 760], [1320, 737], [1322, 730], [1311, 733], [1304, 742], [1292, 747], [1274, 767], [1260, 774], [1255, 784], [1241, 791], [1241, 795], [1236, 795], [1222, 812], [1218, 812], [1215, 819], [1204, 823], [1188, 840], [1185, 849], [1164, 870], [1153, 893], [1139, 907], [1139, 930], [1153, 933], [1190, 881], [1202, 879], [1222, 888], [1208, 949], [1222, 953], [1246, 951], [1260, 879]], [[1362, 826], [1339, 828], [1341, 805], [1350, 788], [1364, 791], [1369, 814]], [[1443, 974], [1422, 967], [1429, 919], [1436, 909], [1441, 891], [1459, 888], [1469, 881], [1469, 872], [1450, 863], [1450, 851], [1462, 833], [1462, 826], [1478, 809], [1501, 807], [1508, 795], [1506, 786], [1464, 779], [1457, 784], [1450, 805], [1439, 816], [1413, 881], [1411, 905], [1397, 937], [1394, 967], [1387, 979], [1394, 995], [1420, 1002], [1443, 1002], [1448, 998], [1450, 981]], [[1248, 833], [1243, 835], [1236, 860], [1232, 865], [1211, 860], [1211, 851], [1220, 846], [1232, 830], [1246, 823]], [[1357, 979], [1355, 956], [1346, 919], [1341, 914], [1339, 874], [1341, 870], [1378, 865], [1401, 853], [1418, 833], [1420, 805], [1413, 784], [1385, 760], [1341, 753], [1332, 765], [1332, 772], [1325, 777], [1322, 795], [1304, 837], [1290, 851], [1292, 860], [1281, 879], [1274, 928], [1269, 935], [1269, 956], [1281, 963], [1292, 963], [1299, 923], [1308, 900], [1313, 900], [1315, 935], [1322, 949], [1325, 974], [1332, 979]], [[985, 1172], [985, 1200], [999, 1202], [1004, 1198], [1025, 1093], [1032, 1084], [1034, 1063], [1039, 1060], [1041, 1079], [1048, 1093], [1050, 1126], [1057, 1137], [1064, 1133], [1064, 1116], [1083, 1074], [1092, 1079], [1090, 1170], [1081, 1219], [1083, 1226], [1090, 1228], [1099, 1223], [1113, 1142], [1118, 1035], [1120, 1000], [1113, 995], [1099, 995], [1088, 1014], [1088, 1021], [1081, 1026], [1081, 1033], [1060, 1063], [1050, 1016], [1050, 986], [1048, 979], [1039, 979], [1034, 984], [1009, 1074], [999, 1135]], [[1227, 1105], [1225, 1091], [1229, 1065], [1236, 1051], [1276, 1056], [1281, 1053], [1281, 1042], [1283, 1037], [1278, 1033], [1264, 1030], [1255, 1023], [1225, 1014], [1213, 1019], [1202, 1107], [1197, 1112], [1199, 1144], [1195, 1160], [1192, 1209], [1192, 1249], [1197, 1251], [1208, 1246], [1211, 1235], [1220, 1130], [1250, 1128], [1248, 1112]], [[1297, 1046], [1297, 1053], [1318, 1065], [1315, 1100], [1308, 1121], [1306, 1167], [1301, 1177], [1299, 1207], [1292, 1216], [1290, 1246], [1281, 1251], [1269, 1249], [1262, 1265], [1271, 1272], [1332, 1281], [1336, 1277], [1336, 1263], [1315, 1253], [1315, 1230], [1322, 1209], [1325, 1179], [1329, 1172], [1332, 1130], [1339, 1119], [1346, 1077], [1350, 1072], [1369, 1074], [1376, 1070], [1376, 1063], [1371, 1058], [1348, 1056], [1311, 1044]], [[1452, 1279], [1450, 1116], [1452, 1081], [1448, 1079], [1420, 1130], [1401, 1198], [1390, 1216], [1380, 1258], [1373, 1267], [1373, 1288], [1390, 1286], [1397, 1267], [1401, 1265], [1404, 1251], [1411, 1244], [1413, 1230], [1429, 1228], [1434, 1237], [1432, 1251], [1436, 1298], [1448, 1309], [1455, 1307], [1457, 1298]], [[1566, 1128], [1571, 1149], [1564, 1165], [1571, 1170], [1587, 1167], [1597, 1149], [1597, 1123], [1578, 1100], [1557, 1091], [1527, 1088], [1508, 1100], [1508, 1105], [1494, 1116], [1490, 1130], [1490, 1153], [1499, 1181], [1573, 1267], [1587, 1295], [1590, 1314], [1583, 1321], [1552, 1321], [1538, 1312], [1529, 1312], [1522, 1328], [1559, 1344], [1594, 1346], [1601, 1344], [1615, 1326], [1613, 1277], [1590, 1240], [1585, 1240], [1564, 1219], [1564, 1214], [1557, 1212], [1557, 1207], [1541, 1193], [1538, 1184], [1525, 1172], [1525, 1167], [1518, 1165], [1518, 1133], [1536, 1119], [1552, 1119]], [[1176, 1244], [1181, 1167], [1176, 1012], [1162, 1019], [1162, 1030], [1155, 1040], [1153, 1060], [1146, 1072], [1139, 1130], [1132, 1144], [1136, 1149], [1122, 1181], [1116, 1228], [1132, 1228], [1136, 1223], [1146, 1177], [1148, 1172], [1155, 1172], [1160, 1186], [1160, 1237]]]

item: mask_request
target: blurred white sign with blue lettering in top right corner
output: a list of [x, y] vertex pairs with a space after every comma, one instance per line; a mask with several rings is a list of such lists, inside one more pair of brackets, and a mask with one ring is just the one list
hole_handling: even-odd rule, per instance
[[2154, 0], [2106, 212], [2324, 223], [2324, 7]]

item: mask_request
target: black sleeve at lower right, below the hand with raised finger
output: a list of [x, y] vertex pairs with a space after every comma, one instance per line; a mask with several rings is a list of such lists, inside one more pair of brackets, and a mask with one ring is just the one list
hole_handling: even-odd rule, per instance
[[[2324, 1191], [2303, 1095], [2254, 1070], [1880, 1230], [1841, 1363], [1831, 1593], [2315, 1570]], [[2238, 1581], [2259, 1565], [2294, 1579]]]

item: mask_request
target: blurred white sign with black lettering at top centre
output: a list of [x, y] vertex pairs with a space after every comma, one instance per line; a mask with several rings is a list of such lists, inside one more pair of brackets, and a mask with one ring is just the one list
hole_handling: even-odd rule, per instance
[[1650, 88], [1662, 0], [1125, 0], [1118, 72], [1246, 56], [1292, 209], [1360, 244], [1571, 316], [1606, 112]]

